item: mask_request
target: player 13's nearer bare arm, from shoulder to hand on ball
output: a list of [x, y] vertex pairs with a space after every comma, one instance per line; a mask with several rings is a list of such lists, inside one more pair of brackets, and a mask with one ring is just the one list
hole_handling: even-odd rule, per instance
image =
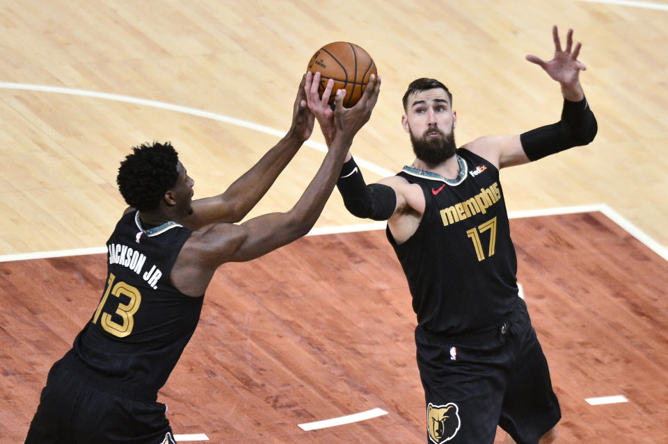
[[337, 94], [335, 138], [317, 174], [291, 210], [254, 217], [240, 225], [214, 224], [193, 232], [172, 273], [179, 290], [187, 295], [200, 295], [222, 263], [249, 261], [308, 233], [331, 195], [353, 137], [371, 117], [380, 79], [371, 82], [353, 108], [343, 107], [344, 90]]

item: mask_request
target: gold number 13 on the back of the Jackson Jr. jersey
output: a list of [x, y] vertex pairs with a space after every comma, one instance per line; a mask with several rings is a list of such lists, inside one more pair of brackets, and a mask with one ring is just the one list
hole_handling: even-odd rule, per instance
[[[100, 325], [107, 333], [113, 334], [113, 336], [118, 336], [119, 338], [125, 338], [132, 333], [132, 327], [134, 327], [134, 313], [139, 309], [139, 304], [141, 304], [141, 294], [137, 288], [119, 281], [115, 285], [113, 281], [116, 280], [116, 276], [113, 273], [109, 273], [109, 281], [106, 283], [106, 290], [104, 291], [104, 296], [100, 301], [100, 305], [97, 306], [95, 311], [95, 316], [93, 316], [93, 324], [97, 323], [97, 320], [100, 320]], [[111, 314], [103, 312], [102, 309], [106, 303], [106, 299], [109, 298], [109, 295], [115, 296], [118, 298], [118, 307], [116, 308], [116, 315], [119, 315], [122, 323], [115, 322], [111, 320]], [[129, 302], [121, 303], [120, 297], [125, 295], [129, 298]]]

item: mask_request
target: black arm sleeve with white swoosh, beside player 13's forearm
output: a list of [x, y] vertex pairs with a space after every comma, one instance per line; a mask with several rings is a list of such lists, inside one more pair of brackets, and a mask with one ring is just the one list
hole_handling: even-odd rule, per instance
[[343, 164], [336, 188], [339, 189], [347, 210], [357, 217], [388, 220], [395, 213], [395, 190], [381, 183], [367, 185], [352, 158]]

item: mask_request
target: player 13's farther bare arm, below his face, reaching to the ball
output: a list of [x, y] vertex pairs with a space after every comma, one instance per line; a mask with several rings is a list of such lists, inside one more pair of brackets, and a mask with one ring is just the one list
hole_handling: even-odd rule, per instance
[[292, 126], [285, 137], [223, 194], [193, 201], [193, 214], [185, 222], [187, 227], [199, 229], [213, 223], [239, 222], [267, 193], [313, 131], [314, 117], [305, 105], [304, 86], [305, 76], [294, 101]]

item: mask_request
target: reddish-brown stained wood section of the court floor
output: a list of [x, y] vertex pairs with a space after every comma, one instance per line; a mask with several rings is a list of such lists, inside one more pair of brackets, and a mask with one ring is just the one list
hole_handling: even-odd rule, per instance
[[[665, 259], [598, 212], [514, 219], [511, 233], [562, 404], [558, 442], [668, 442]], [[22, 442], [105, 273], [104, 255], [0, 263], [0, 442]], [[423, 443], [414, 325], [383, 231], [308, 236], [218, 270], [159, 401], [175, 433], [211, 443]], [[610, 395], [628, 402], [585, 401]], [[298, 427], [375, 408], [388, 414]]]

